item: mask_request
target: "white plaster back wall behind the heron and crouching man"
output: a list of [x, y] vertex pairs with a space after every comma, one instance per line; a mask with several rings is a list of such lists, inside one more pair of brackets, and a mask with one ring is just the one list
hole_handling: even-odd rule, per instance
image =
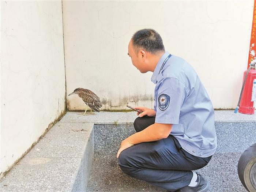
[[[235, 108], [246, 70], [253, 1], [63, 1], [67, 94], [94, 91], [102, 109], [153, 107], [151, 72], [127, 56], [135, 31], [153, 28], [196, 70], [214, 108]], [[78, 95], [70, 110], [84, 109]]]

